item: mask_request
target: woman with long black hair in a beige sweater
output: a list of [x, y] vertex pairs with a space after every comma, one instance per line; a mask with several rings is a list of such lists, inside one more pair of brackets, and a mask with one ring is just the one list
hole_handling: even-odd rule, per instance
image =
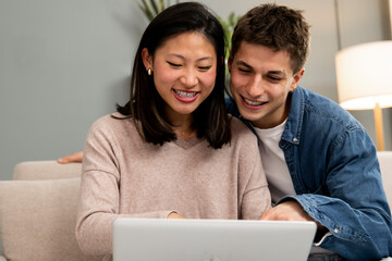
[[270, 208], [256, 137], [224, 107], [224, 38], [201, 4], [179, 3], [146, 28], [131, 100], [87, 136], [76, 225], [110, 259], [120, 216], [259, 219]]

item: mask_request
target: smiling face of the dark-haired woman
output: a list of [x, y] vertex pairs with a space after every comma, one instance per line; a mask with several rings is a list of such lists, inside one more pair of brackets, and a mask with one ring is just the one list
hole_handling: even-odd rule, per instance
[[211, 94], [217, 77], [217, 53], [203, 34], [180, 34], [163, 42], [154, 57], [147, 49], [142, 55], [146, 70], [152, 71], [169, 119], [192, 114]]

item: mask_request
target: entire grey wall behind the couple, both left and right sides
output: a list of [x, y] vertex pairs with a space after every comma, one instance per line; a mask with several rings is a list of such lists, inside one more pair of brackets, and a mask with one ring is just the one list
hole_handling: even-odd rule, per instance
[[[203, 2], [226, 17], [267, 1]], [[335, 2], [277, 2], [305, 10], [313, 26], [301, 85], [336, 101]], [[342, 47], [390, 37], [387, 0], [338, 2]], [[133, 0], [0, 0], [0, 179], [10, 179], [17, 162], [83, 149], [90, 124], [127, 100], [131, 64], [146, 25]], [[373, 138], [371, 112], [355, 116]], [[389, 150], [391, 127], [384, 110]]]

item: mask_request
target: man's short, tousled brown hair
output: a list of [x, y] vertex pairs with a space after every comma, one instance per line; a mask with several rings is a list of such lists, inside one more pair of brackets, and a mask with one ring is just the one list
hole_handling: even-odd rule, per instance
[[297, 73], [309, 53], [309, 25], [302, 11], [273, 3], [249, 10], [235, 26], [232, 58], [243, 41], [262, 45], [274, 51], [287, 51], [293, 73]]

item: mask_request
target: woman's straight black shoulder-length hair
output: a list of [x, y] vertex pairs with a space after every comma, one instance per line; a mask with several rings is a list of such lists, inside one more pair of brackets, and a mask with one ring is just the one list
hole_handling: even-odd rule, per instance
[[193, 112], [193, 127], [197, 137], [205, 137], [212, 148], [221, 148], [231, 140], [230, 119], [224, 105], [224, 34], [217, 17], [203, 4], [182, 2], [159, 13], [147, 26], [135, 55], [131, 77], [131, 99], [118, 104], [118, 112], [132, 115], [138, 134], [147, 142], [163, 145], [175, 140], [172, 124], [164, 115], [164, 101], [158, 94], [152, 76], [143, 63], [142, 50], [147, 48], [152, 57], [169, 38], [183, 33], [197, 32], [207, 37], [217, 52], [217, 78], [213, 90]]

